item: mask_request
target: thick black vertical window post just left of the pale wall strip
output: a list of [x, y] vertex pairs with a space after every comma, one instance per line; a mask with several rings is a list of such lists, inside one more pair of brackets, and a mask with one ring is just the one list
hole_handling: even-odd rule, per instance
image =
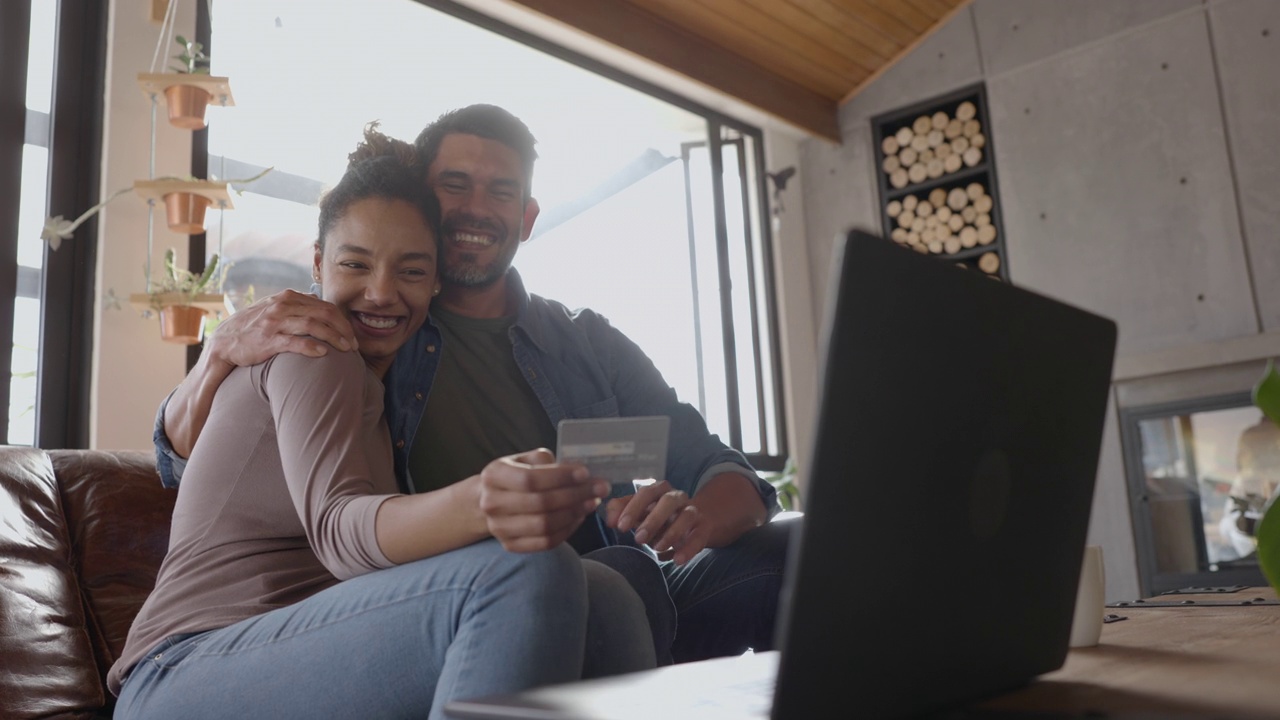
[[[60, 0], [50, 111], [49, 214], [100, 200], [108, 4]], [[36, 445], [88, 447], [97, 218], [56, 251], [45, 246]]]

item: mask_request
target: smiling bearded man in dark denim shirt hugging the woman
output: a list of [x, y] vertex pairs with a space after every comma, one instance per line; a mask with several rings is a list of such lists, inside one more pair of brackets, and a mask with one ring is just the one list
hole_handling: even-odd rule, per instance
[[[444, 214], [444, 290], [424, 341], [402, 351], [387, 379], [401, 483], [428, 492], [480, 474], [489, 529], [512, 551], [570, 539], [580, 551], [632, 538], [646, 546], [664, 560], [657, 592], [632, 556], [602, 561], [644, 597], [650, 623], [654, 606], [675, 602], [676, 661], [772, 647], [788, 534], [767, 523], [773, 488], [677, 400], [635, 343], [590, 310], [529, 295], [511, 266], [539, 213], [534, 143], [524, 123], [492, 105], [447, 113], [417, 138]], [[353, 342], [332, 306], [291, 291], [229, 318], [161, 406], [163, 475], [172, 480], [170, 461], [189, 455], [230, 368]], [[529, 448], [554, 447], [563, 418], [618, 415], [671, 418], [668, 479], [591, 512], [581, 502], [584, 469]]]

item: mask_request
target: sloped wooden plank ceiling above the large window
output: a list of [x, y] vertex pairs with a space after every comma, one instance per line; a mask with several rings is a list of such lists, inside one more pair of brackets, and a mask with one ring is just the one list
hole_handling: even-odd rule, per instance
[[970, 0], [509, 0], [819, 137]]

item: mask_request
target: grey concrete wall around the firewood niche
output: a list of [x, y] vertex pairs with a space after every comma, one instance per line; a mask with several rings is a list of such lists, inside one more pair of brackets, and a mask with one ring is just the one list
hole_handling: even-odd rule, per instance
[[[803, 143], [815, 302], [881, 232], [869, 119], [982, 81], [1011, 279], [1114, 318], [1117, 383], [1280, 355], [1277, 67], [1272, 0], [975, 0]], [[1115, 401], [1089, 538], [1137, 596]]]

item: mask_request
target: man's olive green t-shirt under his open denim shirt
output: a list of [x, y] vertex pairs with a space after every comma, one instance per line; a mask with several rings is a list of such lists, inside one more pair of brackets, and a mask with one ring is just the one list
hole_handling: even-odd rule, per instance
[[516, 365], [515, 318], [463, 318], [431, 309], [444, 338], [440, 365], [408, 456], [417, 492], [439, 489], [515, 452], [556, 448], [556, 428]]

